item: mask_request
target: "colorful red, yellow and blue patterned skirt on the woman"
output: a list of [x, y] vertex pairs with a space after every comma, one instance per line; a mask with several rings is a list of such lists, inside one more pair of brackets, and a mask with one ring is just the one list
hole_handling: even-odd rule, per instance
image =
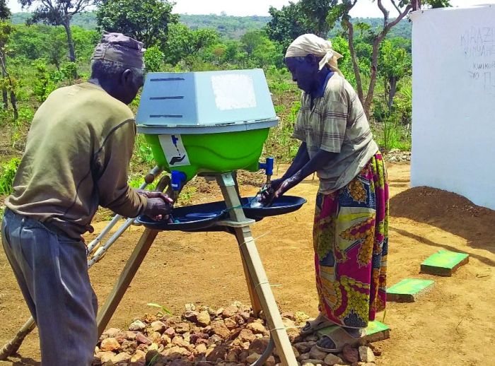
[[366, 328], [386, 299], [388, 183], [380, 153], [347, 187], [318, 194], [313, 245], [320, 312], [340, 326]]

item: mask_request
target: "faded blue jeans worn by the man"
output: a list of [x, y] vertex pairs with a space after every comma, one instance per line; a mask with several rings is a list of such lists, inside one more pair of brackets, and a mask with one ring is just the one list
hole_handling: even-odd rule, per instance
[[40, 333], [42, 366], [91, 365], [98, 303], [84, 243], [9, 210], [1, 238]]

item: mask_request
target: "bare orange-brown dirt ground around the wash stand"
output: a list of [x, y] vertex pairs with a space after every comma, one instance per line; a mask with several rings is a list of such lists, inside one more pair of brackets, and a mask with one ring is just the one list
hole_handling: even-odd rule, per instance
[[[455, 194], [435, 189], [409, 189], [409, 165], [389, 165], [389, 285], [403, 278], [431, 278], [433, 290], [410, 304], [390, 302], [379, 314], [391, 338], [375, 343], [383, 354], [378, 365], [494, 365], [495, 344], [495, 211], [474, 206]], [[318, 181], [307, 179], [291, 191], [308, 203], [286, 216], [254, 226], [268, 278], [282, 310], [317, 314], [313, 280], [311, 230]], [[253, 193], [251, 187], [245, 193]], [[214, 199], [211, 191], [202, 200]], [[201, 198], [201, 197], [199, 197]], [[104, 223], [98, 223], [99, 232]], [[133, 227], [91, 270], [103, 303], [124, 266], [141, 228]], [[92, 236], [88, 236], [91, 240]], [[421, 261], [438, 249], [470, 254], [470, 263], [453, 277], [419, 274]], [[28, 319], [4, 253], [0, 251], [0, 346]], [[238, 248], [226, 233], [163, 232], [151, 247], [110, 326], [124, 327], [133, 317], [155, 312], [156, 302], [181, 312], [185, 303], [221, 307], [234, 300], [248, 303]], [[386, 315], [386, 316], [385, 316]], [[22, 358], [1, 365], [36, 365], [37, 332], [21, 346]]]

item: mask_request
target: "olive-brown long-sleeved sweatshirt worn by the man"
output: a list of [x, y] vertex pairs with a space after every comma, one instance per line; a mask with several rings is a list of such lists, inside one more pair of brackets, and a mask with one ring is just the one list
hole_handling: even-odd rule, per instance
[[126, 217], [146, 208], [127, 184], [132, 111], [91, 83], [55, 90], [37, 110], [6, 206], [78, 238], [98, 205]]

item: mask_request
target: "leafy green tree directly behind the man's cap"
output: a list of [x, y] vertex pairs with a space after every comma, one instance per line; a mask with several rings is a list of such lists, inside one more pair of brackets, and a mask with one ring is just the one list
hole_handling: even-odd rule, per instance
[[103, 0], [96, 11], [98, 26], [144, 42], [146, 47], [162, 47], [170, 25], [177, 23], [168, 0]]

